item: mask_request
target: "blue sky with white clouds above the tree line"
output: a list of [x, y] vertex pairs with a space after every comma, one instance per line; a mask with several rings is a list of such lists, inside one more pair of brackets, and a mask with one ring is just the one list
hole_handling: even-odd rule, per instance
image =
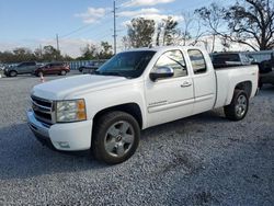
[[[191, 12], [212, 2], [226, 0], [116, 0], [118, 50], [126, 24], [144, 16], [159, 21], [169, 15], [183, 22], [182, 12]], [[230, 1], [231, 2], [231, 1]], [[113, 44], [113, 0], [0, 0], [0, 50], [56, 47], [61, 54], [80, 56], [87, 44], [107, 41]]]

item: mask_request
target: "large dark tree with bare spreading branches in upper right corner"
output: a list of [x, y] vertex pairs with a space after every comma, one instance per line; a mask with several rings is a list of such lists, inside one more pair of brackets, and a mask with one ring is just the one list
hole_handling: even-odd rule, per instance
[[[274, 3], [271, 0], [239, 0], [226, 13], [232, 41], [253, 49], [274, 47]], [[252, 44], [247, 42], [251, 39]]]

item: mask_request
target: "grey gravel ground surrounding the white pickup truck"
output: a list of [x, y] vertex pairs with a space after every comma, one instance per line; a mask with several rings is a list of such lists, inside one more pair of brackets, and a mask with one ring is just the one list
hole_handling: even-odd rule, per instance
[[274, 205], [273, 87], [241, 122], [216, 110], [147, 129], [136, 154], [110, 167], [34, 139], [25, 110], [37, 83], [0, 79], [0, 205]]

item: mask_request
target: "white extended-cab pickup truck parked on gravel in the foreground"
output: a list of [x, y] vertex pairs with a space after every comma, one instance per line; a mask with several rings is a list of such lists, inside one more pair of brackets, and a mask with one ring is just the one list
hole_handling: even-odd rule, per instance
[[94, 75], [34, 87], [28, 125], [54, 149], [91, 149], [98, 160], [119, 163], [136, 151], [140, 129], [222, 106], [229, 119], [242, 119], [258, 75], [256, 66], [215, 70], [197, 47], [133, 49]]

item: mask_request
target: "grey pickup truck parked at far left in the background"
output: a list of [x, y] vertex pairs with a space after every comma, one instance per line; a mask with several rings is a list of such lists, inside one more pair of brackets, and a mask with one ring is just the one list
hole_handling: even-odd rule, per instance
[[41, 64], [37, 64], [35, 61], [25, 61], [18, 65], [11, 65], [4, 67], [4, 75], [7, 77], [16, 77], [18, 75], [33, 73], [34, 70], [39, 66]]

